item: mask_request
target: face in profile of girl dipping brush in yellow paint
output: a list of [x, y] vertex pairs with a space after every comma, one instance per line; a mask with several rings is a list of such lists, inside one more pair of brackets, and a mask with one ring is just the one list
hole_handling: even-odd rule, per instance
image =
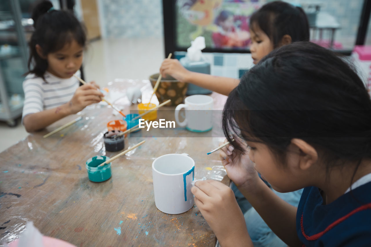
[[273, 43], [260, 28], [255, 28], [255, 32], [250, 30], [250, 33], [252, 42], [250, 46], [251, 56], [253, 63], [257, 64], [260, 59], [273, 50]]

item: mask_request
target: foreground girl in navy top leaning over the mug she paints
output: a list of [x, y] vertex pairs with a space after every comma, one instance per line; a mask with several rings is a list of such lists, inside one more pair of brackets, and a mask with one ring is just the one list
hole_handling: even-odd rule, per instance
[[[296, 42], [264, 57], [230, 93], [222, 124], [234, 150], [223, 148], [220, 158], [288, 246], [370, 246], [370, 113], [367, 89], [346, 62]], [[299, 206], [269, 190], [258, 172], [276, 191], [304, 188]], [[195, 185], [221, 246], [253, 246], [233, 191], [211, 180]]]

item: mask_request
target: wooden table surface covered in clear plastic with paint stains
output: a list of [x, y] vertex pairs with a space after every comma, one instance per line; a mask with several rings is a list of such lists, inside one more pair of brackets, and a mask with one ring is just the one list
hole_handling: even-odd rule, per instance
[[[125, 90], [140, 86], [144, 98], [152, 93], [148, 80], [115, 80], [109, 83], [116, 106], [134, 113]], [[121, 97], [120, 97], [121, 95]], [[214, 109], [223, 108], [226, 97], [213, 93]], [[157, 100], [157, 99], [155, 99]], [[157, 210], [152, 183], [152, 162], [170, 153], [187, 153], [195, 161], [195, 178], [228, 183], [218, 153], [206, 155], [222, 141], [220, 111], [213, 130], [196, 134], [174, 129], [141, 130], [125, 139], [125, 149], [145, 144], [112, 163], [112, 177], [88, 180], [85, 162], [106, 152], [102, 136], [106, 123], [121, 119], [103, 105], [85, 108], [83, 119], [43, 139], [42, 136], [76, 118], [68, 116], [46, 130], [30, 134], [0, 154], [0, 242], [18, 238], [27, 221], [43, 235], [75, 246], [215, 246], [216, 238], [196, 205], [188, 212], [168, 215]], [[158, 118], [174, 120], [174, 107], [158, 111]]]

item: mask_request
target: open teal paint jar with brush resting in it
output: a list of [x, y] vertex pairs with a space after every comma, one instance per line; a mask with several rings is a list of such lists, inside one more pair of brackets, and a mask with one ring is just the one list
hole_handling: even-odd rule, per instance
[[93, 158], [88, 159], [86, 161], [86, 170], [88, 171], [88, 178], [92, 182], [104, 182], [109, 180], [112, 176], [111, 171], [111, 163], [108, 163], [102, 167], [98, 167], [98, 165], [102, 164], [109, 157], [106, 156], [95, 156]]

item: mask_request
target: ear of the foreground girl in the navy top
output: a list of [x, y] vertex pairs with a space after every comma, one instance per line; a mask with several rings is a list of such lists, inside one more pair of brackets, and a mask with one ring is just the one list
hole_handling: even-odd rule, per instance
[[300, 169], [306, 170], [310, 168], [318, 160], [318, 153], [312, 145], [309, 145], [307, 142], [302, 139], [293, 138], [291, 144], [296, 146], [299, 149], [299, 166]]

